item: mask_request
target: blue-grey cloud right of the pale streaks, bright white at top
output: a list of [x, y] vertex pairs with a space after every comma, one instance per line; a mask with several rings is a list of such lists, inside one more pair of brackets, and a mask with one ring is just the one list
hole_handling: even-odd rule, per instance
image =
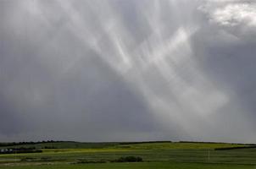
[[237, 142], [253, 140], [255, 3], [208, 1], [200, 8], [205, 9], [208, 22], [202, 22], [193, 36], [193, 50], [203, 72], [229, 95], [229, 102], [211, 117], [219, 126], [217, 131], [223, 132], [216, 135]]

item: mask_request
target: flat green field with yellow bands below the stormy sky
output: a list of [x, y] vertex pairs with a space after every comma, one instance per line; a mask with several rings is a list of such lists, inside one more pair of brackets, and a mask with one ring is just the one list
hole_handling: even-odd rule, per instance
[[[217, 143], [77, 143], [59, 142], [2, 146], [35, 147], [42, 153], [2, 154], [2, 168], [256, 168], [256, 148]], [[220, 148], [237, 148], [216, 150]], [[139, 156], [142, 162], [117, 162]]]

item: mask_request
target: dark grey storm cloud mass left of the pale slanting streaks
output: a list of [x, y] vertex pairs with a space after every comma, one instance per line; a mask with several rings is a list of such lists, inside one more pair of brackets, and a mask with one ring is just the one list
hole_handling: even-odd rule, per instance
[[81, 45], [65, 27], [69, 16], [52, 17], [53, 10], [63, 10], [58, 4], [40, 2], [38, 18], [19, 5], [14, 4], [17, 16], [3, 18], [1, 32], [1, 134], [80, 140], [103, 140], [104, 135], [110, 140], [107, 131], [153, 129], [141, 96], [97, 53]]

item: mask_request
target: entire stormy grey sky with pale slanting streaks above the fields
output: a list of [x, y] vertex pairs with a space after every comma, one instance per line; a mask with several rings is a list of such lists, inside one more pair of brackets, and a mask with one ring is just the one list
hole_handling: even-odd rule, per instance
[[0, 140], [256, 142], [254, 0], [1, 0]]

